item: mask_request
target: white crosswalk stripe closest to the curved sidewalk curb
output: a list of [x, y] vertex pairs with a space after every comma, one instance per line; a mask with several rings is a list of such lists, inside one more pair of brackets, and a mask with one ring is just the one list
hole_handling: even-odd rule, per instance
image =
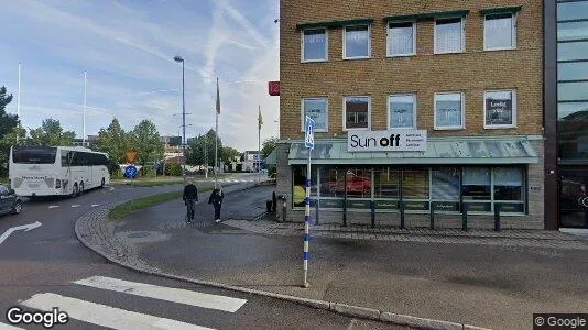
[[243, 306], [243, 304], [247, 302], [247, 300], [239, 298], [208, 295], [185, 289], [128, 282], [102, 276], [92, 276], [76, 280], [74, 283], [107, 290], [230, 312], [236, 312], [239, 310], [239, 308], [241, 308], [241, 306]]

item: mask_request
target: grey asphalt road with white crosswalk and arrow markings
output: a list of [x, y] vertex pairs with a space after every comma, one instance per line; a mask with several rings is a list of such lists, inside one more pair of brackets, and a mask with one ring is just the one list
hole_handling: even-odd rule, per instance
[[[236, 182], [254, 179], [254, 174], [241, 174]], [[211, 182], [199, 187], [207, 185]], [[76, 219], [92, 207], [173, 189], [181, 186], [107, 187], [74, 199], [31, 201], [21, 215], [0, 218], [0, 233], [35, 221], [42, 224], [14, 231], [0, 243], [0, 329], [12, 329], [6, 314], [11, 307], [28, 311], [59, 307], [70, 319], [57, 329], [400, 329], [140, 274], [98, 256], [75, 237]]]

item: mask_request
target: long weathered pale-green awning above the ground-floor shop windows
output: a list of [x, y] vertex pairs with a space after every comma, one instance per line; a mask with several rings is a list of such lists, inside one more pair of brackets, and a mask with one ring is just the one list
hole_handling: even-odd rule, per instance
[[[348, 152], [345, 140], [315, 140], [312, 164], [535, 164], [527, 136], [428, 138], [426, 152]], [[541, 139], [541, 138], [540, 138]], [[536, 140], [536, 139], [535, 139]], [[304, 142], [290, 146], [288, 165], [306, 164]]]

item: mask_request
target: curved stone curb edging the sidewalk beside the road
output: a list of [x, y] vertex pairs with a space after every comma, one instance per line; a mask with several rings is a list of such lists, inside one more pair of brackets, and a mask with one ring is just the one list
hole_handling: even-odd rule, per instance
[[[258, 186], [259, 185], [252, 185], [252, 186], [244, 187], [244, 188], [241, 188], [241, 189], [237, 189], [237, 190], [233, 190], [233, 191], [230, 191], [230, 193], [243, 191], [243, 190], [248, 190], [248, 189], [251, 189], [251, 188], [254, 188], [254, 187], [258, 187]], [[227, 194], [229, 194], [229, 193], [227, 193]], [[115, 206], [116, 205], [110, 204], [110, 205], [102, 206], [102, 208], [115, 207]], [[88, 213], [90, 213], [90, 212], [88, 212]], [[344, 315], [344, 316], [348, 316], [348, 317], [355, 317], [355, 318], [361, 318], [361, 319], [388, 322], [388, 323], [398, 324], [398, 326], [407, 326], [407, 327], [416, 328], [416, 329], [431, 329], [431, 330], [490, 330], [490, 329], [479, 328], [479, 327], [469, 326], [469, 324], [461, 324], [461, 323], [455, 323], [455, 322], [448, 322], [448, 321], [435, 320], [435, 319], [427, 319], [427, 318], [418, 318], [418, 317], [413, 317], [413, 316], [409, 316], [409, 315], [392, 314], [392, 312], [388, 312], [388, 311], [381, 311], [381, 310], [378, 310], [378, 309], [366, 308], [366, 307], [360, 307], [360, 306], [346, 305], [346, 304], [340, 304], [340, 302], [325, 301], [325, 300], [317, 300], [317, 299], [309, 299], [309, 298], [302, 298], [302, 297], [283, 295], [283, 294], [271, 293], [271, 292], [263, 292], [263, 290], [258, 290], [258, 289], [252, 289], [252, 288], [247, 288], [247, 287], [232, 286], [232, 285], [222, 284], [222, 283], [195, 279], [195, 278], [190, 278], [190, 277], [186, 277], [186, 276], [168, 274], [168, 273], [164, 273], [164, 272], [161, 272], [161, 271], [153, 271], [153, 270], [149, 270], [146, 267], [132, 265], [132, 264], [130, 264], [128, 262], [119, 260], [119, 258], [122, 258], [123, 255], [119, 254], [118, 255], [119, 258], [117, 258], [117, 257], [112, 256], [110, 253], [108, 253], [106, 251], [102, 251], [101, 249], [95, 246], [94, 244], [91, 244], [90, 242], [88, 242], [84, 238], [84, 235], [80, 233], [80, 227], [83, 226], [81, 224], [81, 222], [83, 222], [81, 220], [84, 220], [84, 218], [88, 213], [83, 215], [80, 218], [78, 218], [76, 220], [76, 223], [74, 226], [74, 231], [76, 233], [76, 238], [86, 248], [88, 248], [89, 250], [94, 251], [98, 255], [105, 257], [106, 260], [110, 261], [111, 263], [118, 264], [120, 266], [123, 266], [126, 268], [129, 268], [129, 270], [132, 270], [132, 271], [135, 271], [135, 272], [144, 273], [144, 274], [148, 274], [148, 275], [154, 275], [154, 276], [159, 276], [159, 277], [164, 277], [164, 278], [170, 278], [170, 279], [175, 279], [175, 280], [182, 280], [182, 282], [192, 283], [192, 284], [196, 284], [196, 285], [210, 286], [210, 287], [217, 287], [217, 288], [221, 288], [221, 289], [233, 290], [233, 292], [239, 292], [239, 293], [244, 293], [244, 294], [251, 294], [251, 295], [258, 295], [258, 296], [264, 296], [264, 297], [270, 297], [270, 298], [282, 299], [282, 300], [286, 300], [286, 301], [294, 302], [294, 304], [300, 304], [300, 305], [304, 305], [304, 306], [308, 306], [308, 307], [313, 307], [313, 308], [317, 308], [317, 309], [328, 310], [328, 311], [336, 312], [336, 314]], [[104, 219], [99, 219], [97, 221], [104, 221]]]

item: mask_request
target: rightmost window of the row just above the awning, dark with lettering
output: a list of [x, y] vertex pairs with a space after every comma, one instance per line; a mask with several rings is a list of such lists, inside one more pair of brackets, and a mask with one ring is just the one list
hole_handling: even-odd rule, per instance
[[486, 129], [514, 128], [516, 125], [516, 92], [514, 90], [487, 91], [483, 120]]

